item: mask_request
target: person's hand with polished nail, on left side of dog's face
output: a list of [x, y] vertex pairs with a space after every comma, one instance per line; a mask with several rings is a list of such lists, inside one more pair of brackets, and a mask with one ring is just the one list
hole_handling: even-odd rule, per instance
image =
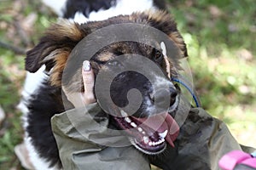
[[84, 82], [84, 93], [68, 93], [66, 88], [62, 88], [67, 95], [67, 99], [76, 107], [83, 107], [96, 102], [93, 93], [95, 77], [90, 66], [90, 61], [84, 60], [82, 68], [82, 77]]

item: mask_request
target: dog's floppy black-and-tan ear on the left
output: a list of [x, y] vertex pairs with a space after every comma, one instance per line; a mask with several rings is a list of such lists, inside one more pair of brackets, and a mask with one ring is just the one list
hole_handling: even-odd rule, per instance
[[49, 27], [38, 45], [26, 53], [26, 71], [36, 72], [45, 65], [46, 71], [51, 70], [51, 82], [57, 81], [59, 75], [55, 74], [63, 71], [68, 55], [83, 37], [78, 24], [59, 20]]

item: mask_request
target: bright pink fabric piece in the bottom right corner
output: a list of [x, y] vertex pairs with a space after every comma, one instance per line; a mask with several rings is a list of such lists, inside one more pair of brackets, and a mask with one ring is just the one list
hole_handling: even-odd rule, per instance
[[223, 170], [233, 170], [237, 163], [249, 158], [252, 158], [252, 156], [241, 150], [233, 150], [218, 161], [218, 166]]

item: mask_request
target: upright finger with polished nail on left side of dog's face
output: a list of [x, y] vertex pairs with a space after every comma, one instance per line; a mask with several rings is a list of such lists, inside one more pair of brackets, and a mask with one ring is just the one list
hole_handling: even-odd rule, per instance
[[82, 76], [84, 81], [84, 101], [87, 104], [88, 102], [93, 103], [96, 100], [93, 93], [95, 77], [88, 60], [83, 62]]

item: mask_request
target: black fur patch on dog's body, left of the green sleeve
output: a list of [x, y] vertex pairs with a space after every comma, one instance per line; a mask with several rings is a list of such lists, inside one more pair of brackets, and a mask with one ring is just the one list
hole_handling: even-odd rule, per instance
[[28, 101], [29, 114], [26, 132], [32, 139], [32, 144], [40, 157], [49, 161], [50, 166], [61, 166], [57, 144], [51, 130], [50, 118], [64, 110], [61, 96], [61, 88], [49, 86], [44, 82], [38, 88], [38, 93], [32, 94]]

